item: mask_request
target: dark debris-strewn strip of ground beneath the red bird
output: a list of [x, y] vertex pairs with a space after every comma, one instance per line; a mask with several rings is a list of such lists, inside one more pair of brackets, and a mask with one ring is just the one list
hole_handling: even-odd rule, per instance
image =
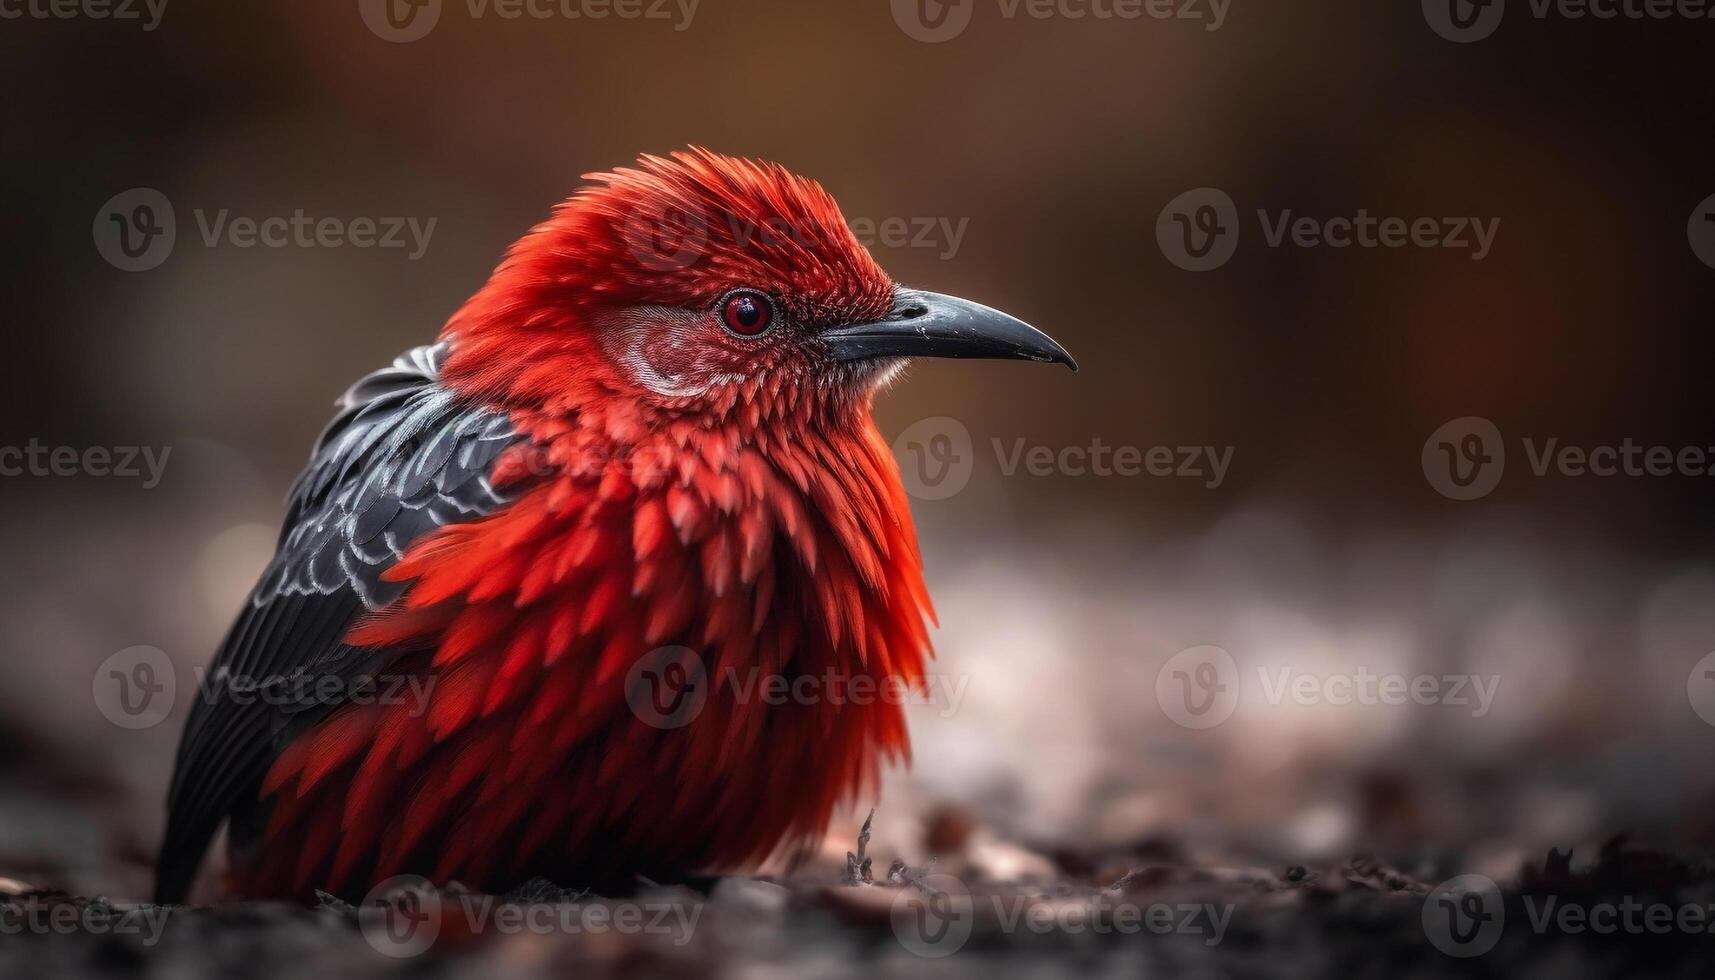
[[[353, 908], [0, 906], [0, 977], [1710, 977], [1710, 868], [1612, 843], [1490, 889], [1327, 868], [1079, 862], [1034, 884], [936, 868], [719, 879], [600, 898], [403, 889]], [[845, 877], [847, 880], [839, 880]], [[870, 879], [864, 882], [863, 879]], [[856, 880], [859, 884], [847, 884]]]

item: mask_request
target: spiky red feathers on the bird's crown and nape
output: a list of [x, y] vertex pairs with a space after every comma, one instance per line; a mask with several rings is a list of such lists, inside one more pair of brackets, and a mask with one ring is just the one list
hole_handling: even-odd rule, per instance
[[[636, 396], [636, 376], [617, 369], [635, 352], [611, 343], [635, 326], [635, 311], [712, 309], [749, 287], [777, 297], [806, 340], [821, 326], [882, 318], [894, 302], [894, 281], [833, 197], [775, 163], [691, 149], [587, 178], [595, 184], [520, 239], [448, 323], [451, 384], [521, 405], [568, 407], [612, 388]], [[667, 367], [701, 354], [720, 374], [768, 371], [785, 383], [809, 372], [813, 352], [710, 350], [725, 340], [719, 330], [677, 330], [657, 347], [674, 348], [660, 352]]]

